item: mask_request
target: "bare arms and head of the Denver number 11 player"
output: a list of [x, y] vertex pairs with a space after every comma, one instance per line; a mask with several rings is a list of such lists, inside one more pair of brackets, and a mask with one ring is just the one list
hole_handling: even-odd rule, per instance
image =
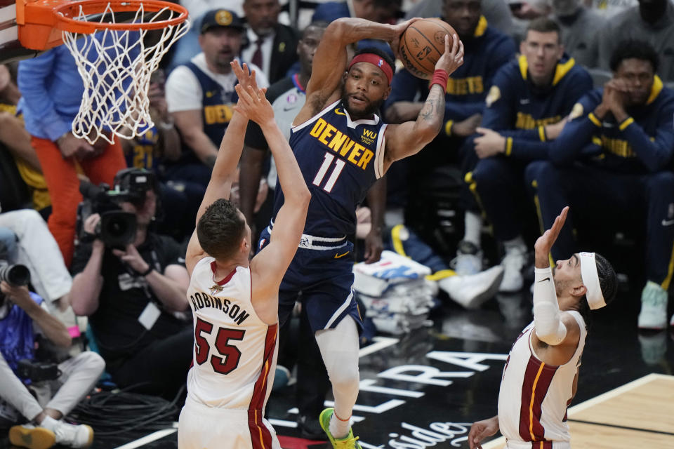
[[[361, 39], [381, 39], [388, 41], [396, 51], [400, 36], [416, 20], [418, 19], [407, 20], [398, 25], [377, 24], [358, 18], [333, 21], [326, 29], [314, 55], [311, 79], [307, 86], [307, 100], [293, 124], [310, 120], [327, 105], [340, 99], [348, 107], [353, 120], [369, 117], [376, 112], [390, 94], [393, 68], [386, 61], [371, 61], [368, 55], [372, 53], [356, 55], [347, 65], [346, 48], [350, 43]], [[449, 74], [463, 64], [463, 43], [454, 34], [451, 36], [450, 47], [449, 37], [446, 35], [444, 38], [444, 53], [435, 65], [430, 93], [416, 121], [389, 125], [385, 130], [385, 155], [380, 177], [392, 162], [416, 154], [440, 132], [447, 79]], [[358, 64], [359, 62], [371, 64], [363, 65]]]

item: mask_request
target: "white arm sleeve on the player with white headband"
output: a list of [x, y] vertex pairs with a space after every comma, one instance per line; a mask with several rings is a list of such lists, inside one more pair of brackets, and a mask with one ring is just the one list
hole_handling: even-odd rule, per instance
[[538, 340], [553, 346], [567, 336], [550, 267], [534, 269], [534, 330]]

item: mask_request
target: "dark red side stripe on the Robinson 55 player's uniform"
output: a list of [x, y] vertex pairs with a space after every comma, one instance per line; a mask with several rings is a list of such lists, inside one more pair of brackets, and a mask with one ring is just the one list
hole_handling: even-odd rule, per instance
[[272, 434], [262, 422], [262, 418], [265, 408], [265, 398], [267, 398], [267, 379], [274, 359], [278, 328], [278, 323], [267, 327], [262, 369], [260, 370], [258, 380], [255, 382], [255, 387], [253, 387], [253, 396], [248, 407], [248, 428], [251, 432], [253, 449], [271, 449], [272, 447]]

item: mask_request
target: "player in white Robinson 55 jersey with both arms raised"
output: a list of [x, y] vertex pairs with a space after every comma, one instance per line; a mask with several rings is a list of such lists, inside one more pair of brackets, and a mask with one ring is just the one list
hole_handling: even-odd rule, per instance
[[[277, 358], [279, 283], [298, 248], [310, 193], [254, 72], [235, 61], [232, 69], [239, 102], [185, 257], [195, 341], [178, 426], [180, 449], [280, 449], [263, 416]], [[228, 201], [249, 119], [262, 128], [287, 192], [274, 236], [250, 262], [251, 229]]]

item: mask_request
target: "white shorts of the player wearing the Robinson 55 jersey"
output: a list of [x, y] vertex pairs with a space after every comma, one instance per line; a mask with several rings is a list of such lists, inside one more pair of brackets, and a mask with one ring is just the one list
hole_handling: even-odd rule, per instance
[[272, 424], [248, 410], [207, 407], [187, 399], [178, 420], [178, 449], [281, 449]]

